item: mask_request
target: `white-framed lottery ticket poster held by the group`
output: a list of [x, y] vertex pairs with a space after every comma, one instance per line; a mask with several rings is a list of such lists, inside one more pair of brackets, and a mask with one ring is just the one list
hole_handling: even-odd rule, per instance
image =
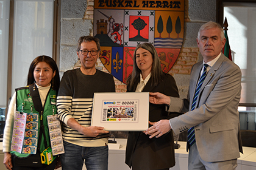
[[149, 124], [149, 92], [94, 93], [91, 126], [106, 131], [145, 131]]

